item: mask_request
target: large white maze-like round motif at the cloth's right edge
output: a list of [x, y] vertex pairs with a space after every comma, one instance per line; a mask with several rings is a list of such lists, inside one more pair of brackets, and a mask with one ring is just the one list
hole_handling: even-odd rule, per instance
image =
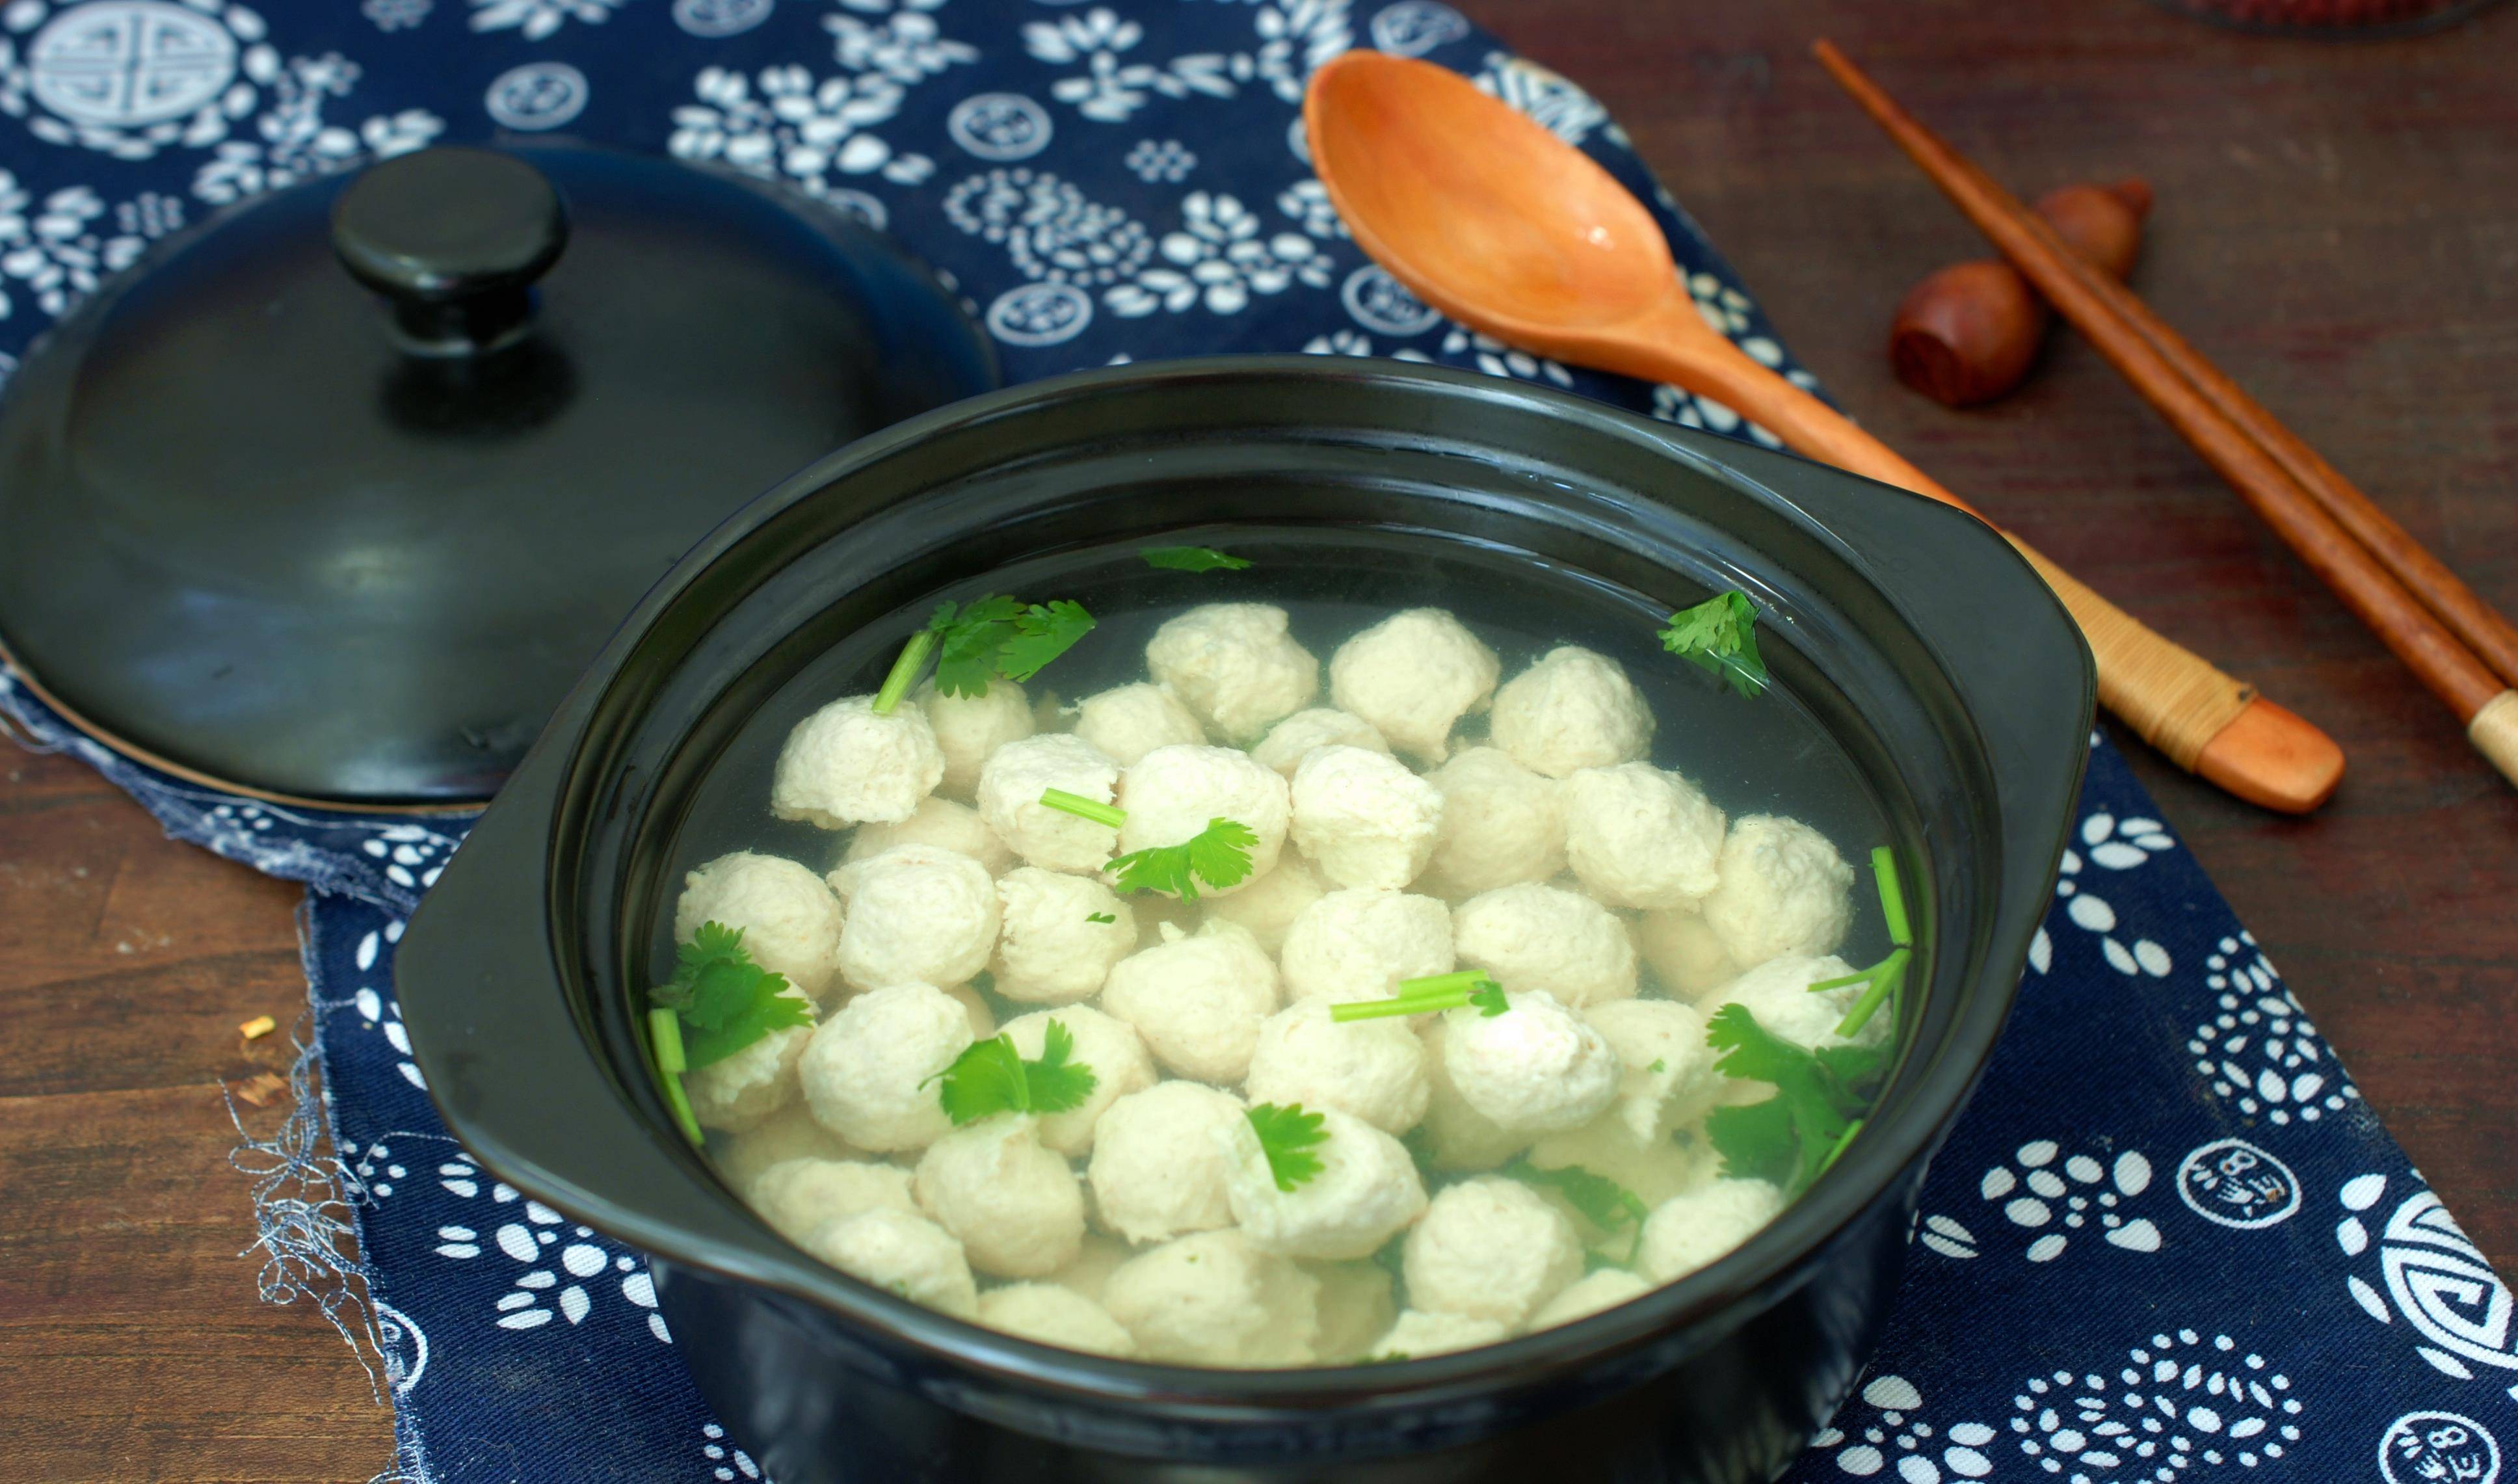
[[[2407, 1182], [2380, 1214], [2387, 1184], [2385, 1174], [2357, 1174], [2337, 1192], [2334, 1245], [2354, 1265], [2344, 1277], [2352, 1303], [2382, 1325], [2402, 1318], [2415, 1353], [2442, 1376], [2473, 1381], [2475, 1366], [2518, 1371], [2508, 1285], [2420, 1182]], [[2518, 1398], [2518, 1386], [2510, 1396]]]

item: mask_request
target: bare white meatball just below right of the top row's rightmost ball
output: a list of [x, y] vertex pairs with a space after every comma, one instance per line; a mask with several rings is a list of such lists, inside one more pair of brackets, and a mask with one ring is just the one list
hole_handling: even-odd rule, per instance
[[1715, 889], [1722, 811], [1652, 763], [1566, 779], [1566, 862], [1609, 907], [1682, 907]]

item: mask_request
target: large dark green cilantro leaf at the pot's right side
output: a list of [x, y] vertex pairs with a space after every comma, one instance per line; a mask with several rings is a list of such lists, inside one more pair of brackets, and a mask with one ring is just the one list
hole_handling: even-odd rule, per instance
[[1715, 1071], [1775, 1086], [1775, 1096], [1745, 1109], [1715, 1109], [1705, 1131], [1722, 1154], [1722, 1174], [1765, 1179], [1798, 1194], [1853, 1139], [1871, 1109], [1886, 1053], [1866, 1046], [1795, 1046], [1765, 1025], [1747, 1005], [1722, 1005], [1705, 1028], [1720, 1051]]

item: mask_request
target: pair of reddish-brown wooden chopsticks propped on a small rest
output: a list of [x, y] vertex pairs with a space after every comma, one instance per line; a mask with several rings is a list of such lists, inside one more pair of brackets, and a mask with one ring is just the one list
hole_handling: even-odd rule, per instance
[[[2306, 451], [2299, 438], [2266, 413], [2264, 408], [2246, 401], [2233, 383], [2218, 370], [2211, 380], [2226, 388], [2228, 401], [2244, 401], [2251, 408], [2249, 421], [2279, 431], [2279, 441], [2286, 441], [2306, 459], [2294, 456], [2284, 461], [2274, 446], [2259, 441], [2249, 421], [2241, 421], [2233, 411], [2213, 398], [2198, 378], [2181, 370], [2181, 363], [2171, 358], [2160, 340], [2143, 333], [2140, 322], [2158, 325], [2158, 317], [2143, 310], [2140, 320], [2123, 312], [2120, 302], [2138, 302], [2130, 290], [2118, 285], [2100, 285], [2097, 272], [2085, 267], [2075, 252], [2070, 252], [2052, 227], [2040, 222], [2022, 207], [2009, 191], [2004, 191], [1992, 176], [1979, 171], [1956, 149], [1931, 134], [1924, 123], [1909, 116], [1894, 98], [1888, 98], [1871, 78], [1861, 73], [1833, 43], [1821, 40], [1815, 48], [1821, 66], [1836, 78], [1846, 93], [1914, 159], [1924, 174], [1941, 186], [1941, 191], [2002, 249], [2004, 257], [2037, 285], [2037, 292], [2055, 305], [2065, 320], [2072, 322], [2100, 355], [2115, 365], [2135, 391], [2160, 411], [2168, 423], [2186, 436], [2186, 441], [2203, 454], [2203, 459], [2221, 471], [2221, 476], [2239, 491], [2239, 496], [2279, 534], [2299, 557], [2334, 590], [2337, 597], [2364, 622], [2369, 630], [2390, 648], [2395, 655], [2440, 698], [2447, 708], [2465, 723], [2468, 738], [2480, 748], [2503, 776], [2518, 784], [2518, 690], [2508, 685], [2500, 675], [2485, 665], [2473, 648], [2450, 632], [2435, 615], [2427, 597], [2437, 595], [2437, 602], [2455, 605], [2447, 590], [2440, 590], [2427, 579], [2427, 574], [2415, 577], [2410, 585], [2405, 577], [2392, 572], [2377, 554], [2374, 547], [2364, 547], [2354, 539], [2327, 501], [2291, 471], [2291, 464], [2301, 469], [2332, 469], [2322, 459]], [[2113, 295], [2105, 290], [2115, 290]], [[2165, 333], [2165, 325], [2158, 325]], [[2193, 365], [2208, 365], [2201, 353], [2196, 353], [2183, 340], [2176, 340], [2183, 358]], [[2276, 441], [2276, 443], [2279, 443]], [[2312, 469], [2312, 474], [2314, 474]], [[2332, 474], [2332, 484], [2349, 489], [2339, 474]], [[2367, 506], [2367, 496], [2349, 491], [2352, 501]], [[2349, 501], [2344, 501], [2349, 504]], [[2402, 544], [2410, 552], [2422, 552], [2402, 527], [2387, 522], [2374, 506], [2369, 517], [2385, 522], [2380, 539], [2387, 544]], [[2369, 524], [2369, 522], [2359, 522]], [[2387, 539], [2392, 532], [2392, 542]], [[2427, 567], [2447, 572], [2435, 557], [2422, 552]], [[2410, 567], [2410, 564], [2407, 564]], [[2478, 632], [2493, 637], [2493, 625], [2508, 630], [2480, 597], [2455, 582], [2455, 592], [2465, 595], [2478, 622]], [[2417, 595], [2420, 592], [2420, 595]], [[2518, 635], [2513, 635], [2518, 640]], [[2518, 650], [2518, 642], [2513, 642]], [[2513, 653], [2518, 663], [2518, 653]]]

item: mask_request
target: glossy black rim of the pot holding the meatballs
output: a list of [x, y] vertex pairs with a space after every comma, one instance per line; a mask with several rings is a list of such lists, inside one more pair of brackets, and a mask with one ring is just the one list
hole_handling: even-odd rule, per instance
[[[597, 703], [609, 698], [624, 658], [650, 625], [655, 625], [670, 605], [703, 582], [713, 564], [718, 564], [728, 552], [735, 552], [758, 537], [778, 511], [803, 504], [816, 491], [823, 491], [851, 474], [876, 469], [886, 459], [922, 443], [964, 436], [1007, 416], [1055, 411], [1078, 398], [1103, 398], [1131, 388], [1188, 385], [1229, 391], [1236, 383], [1274, 383], [1284, 378], [1304, 378], [1312, 383], [1330, 380], [1360, 388], [1435, 388], [1463, 401], [1488, 401], [1541, 411], [1546, 418], [1579, 423], [1594, 436], [1609, 433], [1629, 443], [1649, 443], [1654, 456], [1687, 466], [1695, 474], [1712, 479], [1793, 522], [1803, 529], [1803, 534], [1831, 547], [1838, 559], [1863, 574], [1881, 600], [1891, 607], [1899, 605], [1896, 587], [1871, 572], [1861, 552], [1856, 552], [1838, 537], [1836, 529], [1823, 524], [1815, 514], [1803, 509], [1800, 501], [1783, 494], [1773, 484], [1775, 476], [1788, 474], [1790, 469], [1808, 471], [1815, 466], [1805, 466], [1783, 454], [1737, 446], [1710, 433], [1652, 423], [1571, 393], [1448, 368], [1312, 355], [1136, 363], [1025, 383], [924, 413], [816, 461], [778, 489], [733, 514], [705, 542], [700, 542], [700, 547], [685, 554], [665, 579], [657, 582], [630, 620], [624, 620], [619, 635], [614, 635], [597, 665], [584, 680], [579, 680], [579, 688], [554, 718], [551, 731], [541, 743], [536, 743], [534, 753], [516, 773], [519, 781], [546, 784], [554, 794], [549, 816], [534, 821], [534, 826], [546, 836], [544, 847], [549, 852], [544, 854], [544, 889], [549, 892], [544, 910], [554, 912], [562, 907], [559, 897], [567, 894], [569, 887], [556, 884], [551, 877], [567, 874], [559, 867], [567, 831], [589, 819], [584, 809], [572, 816], [559, 806], [559, 801], [572, 791], [582, 801], [587, 789], [594, 786], [589, 768], [602, 771], [604, 766], [604, 758], [587, 756], [589, 718], [597, 711]], [[1956, 1000], [1956, 1010], [1936, 1043], [1901, 1046], [1899, 1061], [1891, 1063], [1891, 1073], [1881, 1091], [1881, 1109], [1886, 1109], [1886, 1114], [1868, 1124], [1861, 1139], [1853, 1139], [1853, 1144], [1846, 1146], [1843, 1156], [1823, 1179], [1795, 1197], [1742, 1247], [1677, 1282], [1659, 1285], [1634, 1300], [1569, 1325], [1448, 1356], [1410, 1358], [1405, 1363], [1256, 1371], [1105, 1358], [1058, 1345], [1040, 1345], [977, 1323], [957, 1320], [826, 1267], [771, 1232], [768, 1224], [753, 1217], [750, 1209], [743, 1207], [743, 1202], [715, 1174], [703, 1174], [703, 1179], [713, 1187], [715, 1199], [743, 1224], [753, 1227], [758, 1240], [728, 1242], [723, 1227], [718, 1235], [695, 1232], [687, 1222], [657, 1219], [637, 1209], [637, 1202], [622, 1202], [589, 1182], [569, 1179], [567, 1174], [549, 1169], [541, 1159], [521, 1151], [516, 1141], [501, 1136], [496, 1126], [478, 1121], [473, 1116], [476, 1109], [466, 1106], [461, 1093], [448, 1096], [441, 1091], [441, 1086], [461, 1081], [461, 1068], [456, 1066], [456, 1058], [461, 1056], [461, 1038], [441, 1041], [438, 1030], [426, 1023], [426, 1015], [410, 1015], [405, 1010], [405, 1023], [410, 1025], [418, 1048], [415, 1056], [431, 1083], [431, 1096], [438, 1099], [446, 1111], [448, 1129], [476, 1151], [486, 1169], [524, 1194], [562, 1209], [574, 1219], [607, 1230], [642, 1252], [665, 1260], [667, 1265], [768, 1290], [783, 1300], [833, 1313], [844, 1323], [861, 1325], [889, 1343], [969, 1368], [982, 1378], [997, 1378], [1035, 1391], [1050, 1388], [1070, 1398], [1093, 1396], [1110, 1403], [1158, 1406], [1166, 1416], [1186, 1421], [1231, 1421], [1236, 1416], [1277, 1416], [1289, 1408], [1355, 1411], [1438, 1406], [1453, 1396], [1491, 1393], [1501, 1386], [1518, 1388], [1528, 1383], [1546, 1383], [1564, 1378], [1576, 1368], [1599, 1368], [1604, 1363], [1614, 1363], [1619, 1356], [1639, 1358], [1647, 1350], [1652, 1356], [1649, 1371], [1659, 1371], [1677, 1353], [1692, 1353], [1717, 1340], [1730, 1328], [1747, 1323], [1778, 1295], [1788, 1293], [1798, 1282], [1805, 1282], [1813, 1270], [1813, 1260], [1843, 1240], [1846, 1232], [1888, 1192], [1888, 1187], [1894, 1187], [1911, 1164], [1929, 1156], [1929, 1151], [1946, 1136], [1994, 1053], [2009, 1003], [2017, 993], [2019, 962], [1992, 960], [2024, 960], [2027, 955], [2027, 927], [2019, 927], [2017, 922], [2022, 917], [2022, 902], [2009, 902], [2012, 889], [2017, 884], [2019, 894], [2030, 894], [2032, 879], [2042, 887], [2035, 892], [2035, 907], [2027, 907], [2024, 915], [2024, 922], [2032, 927], [2042, 915], [2045, 899], [2052, 894], [2055, 862], [2062, 854], [2065, 834], [2070, 829], [2070, 804], [2077, 794], [2080, 768], [2085, 761], [2095, 695], [2087, 648], [2080, 645], [2077, 630], [2072, 630], [2070, 620], [2062, 617], [2060, 605], [2055, 605], [2045, 585], [2007, 547], [2007, 542], [2002, 542], [1999, 534], [1982, 522], [1906, 491], [1868, 486], [1868, 481], [1856, 481], [1853, 476], [1833, 469], [1821, 469], [1818, 474], [1828, 481], [1866, 486], [1863, 499], [1901, 501], [1901, 509], [1896, 509], [1901, 522], [1914, 522], [1921, 529], [1929, 529], [1934, 542], [1951, 542], [1962, 547], [1974, 544], [1979, 547], [1982, 559], [1994, 562], [2002, 569], [2017, 569], [2017, 574], [2035, 585], [2035, 592], [2052, 610], [2052, 625], [2060, 625], [2060, 630], [2070, 635], [2070, 645], [2077, 650], [2077, 723], [2052, 728], [2057, 738], [2072, 738], [2075, 756], [2067, 766], [2055, 771], [2055, 779], [2060, 781], [2060, 799], [2045, 801], [2050, 816], [2042, 821], [2004, 819], [2002, 836], [2027, 834], [2032, 839], [2047, 839], [2052, 849], [2045, 852], [2042, 869], [2030, 867], [2024, 874], [2017, 869], [2009, 872], [2004, 877], [2007, 884], [2002, 889], [2002, 899], [1984, 907], [1984, 917], [1989, 922], [2002, 917], [2004, 910], [2009, 910], [2012, 922], [2004, 922], [1999, 930], [1987, 930], [1987, 935], [1999, 937], [2002, 942], [1962, 950], [1974, 957], [1967, 970], [1972, 975], [1972, 988]], [[1982, 746], [1982, 738], [1977, 741]], [[483, 826], [499, 821], [499, 816], [501, 806], [494, 804], [483, 816]], [[511, 811], [511, 819], [514, 816], [516, 811]], [[456, 862], [448, 867], [448, 877], [461, 872], [463, 852], [456, 854]], [[443, 889], [446, 884], [441, 882], [438, 892]], [[428, 902], [438, 899], [438, 892], [433, 892]], [[415, 962], [413, 950], [421, 947], [423, 940], [433, 937], [423, 932], [428, 902], [423, 902], [421, 915], [413, 920], [413, 932], [405, 937], [405, 970]], [[564, 952], [562, 942], [556, 942], [556, 930], [551, 930], [549, 947], [554, 952]], [[597, 1036], [587, 1025], [579, 1025], [579, 1036], [589, 1056], [604, 1056], [597, 1046]], [[1891, 1096], [1896, 1096], [1896, 1106], [1891, 1106]], [[700, 1156], [682, 1146], [682, 1141], [670, 1131], [670, 1124], [662, 1119], [662, 1099], [657, 1099], [652, 1088], [632, 1086], [619, 1101], [617, 1124], [624, 1136], [645, 1134], [660, 1146], [657, 1154], [685, 1167], [700, 1164]], [[670, 1144], [670, 1149], [662, 1149], [665, 1144]], [[1851, 1376], [1846, 1381], [1851, 1381]]]

